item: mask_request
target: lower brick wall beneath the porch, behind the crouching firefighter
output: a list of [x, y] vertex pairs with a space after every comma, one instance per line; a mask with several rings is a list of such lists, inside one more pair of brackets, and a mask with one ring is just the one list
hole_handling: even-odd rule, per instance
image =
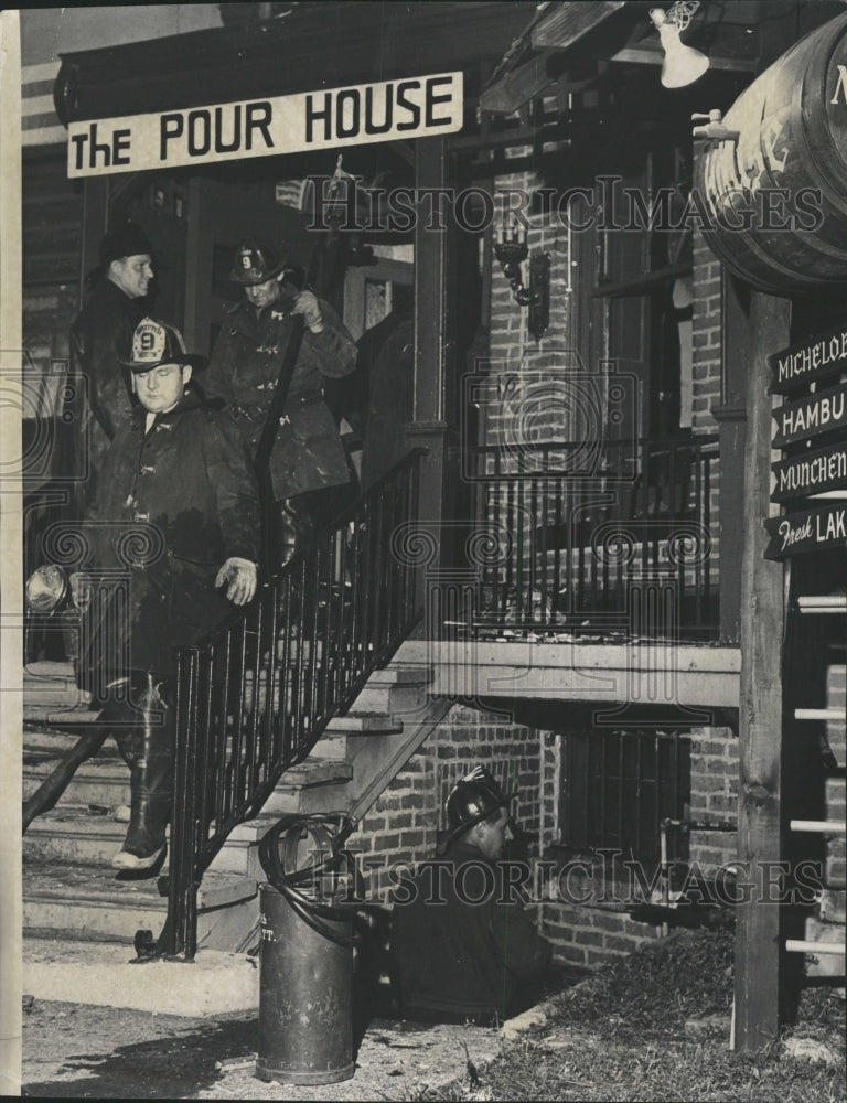
[[[735, 820], [737, 740], [726, 728], [691, 731], [691, 814]], [[511, 722], [506, 717], [455, 705], [363, 818], [351, 845], [361, 848], [368, 899], [389, 902], [397, 867], [430, 857], [444, 827], [443, 802], [452, 784], [475, 763], [485, 765], [507, 791], [517, 791], [521, 826], [535, 839], [537, 914], [561, 961], [596, 966], [661, 938], [661, 928], [623, 911], [618, 890], [607, 904], [602, 863], [590, 880], [562, 881], [550, 872], [550, 847], [559, 842], [559, 758], [562, 737]], [[729, 794], [729, 795], [728, 795]], [[690, 856], [708, 871], [736, 856], [735, 834], [693, 836]], [[589, 898], [591, 902], [579, 903]]]

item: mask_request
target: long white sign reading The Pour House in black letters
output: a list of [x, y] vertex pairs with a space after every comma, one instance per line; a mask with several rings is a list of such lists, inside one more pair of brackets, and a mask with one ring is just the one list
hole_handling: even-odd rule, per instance
[[335, 149], [462, 128], [462, 74], [72, 122], [69, 178]]

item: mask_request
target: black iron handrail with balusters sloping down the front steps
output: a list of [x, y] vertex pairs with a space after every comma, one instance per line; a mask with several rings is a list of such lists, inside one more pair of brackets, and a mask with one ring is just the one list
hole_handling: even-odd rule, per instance
[[414, 558], [398, 537], [417, 517], [422, 454], [410, 452], [232, 624], [180, 652], [157, 954], [193, 959], [196, 893], [212, 859], [419, 619]]

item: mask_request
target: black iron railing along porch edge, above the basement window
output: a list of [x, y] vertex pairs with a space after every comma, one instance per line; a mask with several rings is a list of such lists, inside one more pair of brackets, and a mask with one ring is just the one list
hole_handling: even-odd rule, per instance
[[472, 565], [475, 632], [716, 636], [717, 460], [716, 436], [471, 450], [501, 548]]

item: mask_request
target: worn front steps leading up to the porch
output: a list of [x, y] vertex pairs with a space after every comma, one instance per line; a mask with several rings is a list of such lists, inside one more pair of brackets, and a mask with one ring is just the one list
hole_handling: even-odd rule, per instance
[[[377, 671], [349, 715], [335, 717], [309, 758], [283, 774], [260, 815], [236, 827], [203, 878], [200, 947], [232, 953], [255, 945], [260, 838], [283, 813], [364, 815], [449, 707], [428, 698], [431, 677], [429, 668], [407, 664]], [[36, 663], [26, 671], [24, 799], [78, 738], [67, 729], [93, 718], [67, 666]], [[126, 831], [114, 813], [129, 803], [128, 781], [107, 740], [56, 807], [31, 824], [23, 839], [24, 939], [131, 944], [138, 930], [158, 935], [167, 901], [156, 878], [118, 881], [109, 866]]]

